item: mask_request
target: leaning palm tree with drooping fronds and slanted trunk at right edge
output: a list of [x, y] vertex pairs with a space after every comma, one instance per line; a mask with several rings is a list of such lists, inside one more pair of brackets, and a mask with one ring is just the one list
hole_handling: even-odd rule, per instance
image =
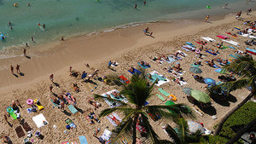
[[251, 93], [241, 101], [236, 107], [230, 110], [224, 118], [218, 123], [216, 130], [213, 135], [218, 135], [222, 129], [224, 122], [230, 118], [230, 116], [236, 112], [241, 106], [243, 106], [247, 101], [249, 101], [256, 94], [256, 62], [250, 55], [241, 55], [236, 58], [234, 62], [230, 65], [224, 66], [222, 72], [234, 72], [238, 75], [239, 79], [232, 82], [226, 82], [217, 86], [213, 86], [211, 91], [214, 89], [220, 89], [221, 87], [228, 88], [228, 93], [230, 91], [241, 89], [244, 87], [251, 87]]

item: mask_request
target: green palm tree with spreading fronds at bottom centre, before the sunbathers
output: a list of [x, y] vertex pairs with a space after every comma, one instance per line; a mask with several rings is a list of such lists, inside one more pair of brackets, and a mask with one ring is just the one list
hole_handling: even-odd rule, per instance
[[[154, 82], [155, 84], [156, 82]], [[108, 101], [115, 101], [121, 104], [120, 107], [106, 108], [99, 116], [104, 117], [108, 114], [119, 111], [125, 114], [125, 118], [122, 119], [122, 123], [119, 124], [116, 130], [113, 130], [113, 136], [111, 137], [113, 141], [117, 141], [120, 135], [131, 133], [132, 130], [132, 143], [136, 143], [137, 139], [137, 125], [138, 122], [143, 122], [141, 126], [146, 130], [147, 135], [150, 136], [152, 143], [160, 143], [159, 136], [156, 135], [152, 126], [148, 120], [148, 112], [156, 116], [157, 114], [163, 118], [178, 118], [178, 117], [192, 117], [189, 107], [183, 104], [176, 104], [172, 106], [161, 106], [161, 105], [147, 105], [145, 106], [145, 101], [152, 95], [151, 92], [154, 88], [154, 84], [148, 84], [146, 75], [133, 75], [131, 77], [130, 84], [123, 84], [123, 89], [120, 94], [125, 95], [128, 99], [128, 103], [113, 100], [112, 98], [106, 98], [102, 95], [95, 95], [96, 99], [107, 99]], [[172, 112], [168, 112], [168, 110]]]

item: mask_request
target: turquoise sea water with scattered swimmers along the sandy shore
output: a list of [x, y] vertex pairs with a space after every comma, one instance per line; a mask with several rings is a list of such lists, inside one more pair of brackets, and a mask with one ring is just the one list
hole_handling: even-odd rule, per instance
[[[230, 3], [232, 9], [222, 9], [225, 3]], [[207, 5], [212, 9], [206, 9]], [[227, 14], [239, 11], [241, 5], [242, 9], [255, 8], [255, 3], [245, 0], [148, 0], [146, 5], [143, 0], [0, 0], [0, 34], [5, 36], [0, 49], [46, 43], [128, 23]], [[13, 23], [12, 31], [8, 21]], [[44, 23], [46, 28], [40, 28], [38, 23]]]

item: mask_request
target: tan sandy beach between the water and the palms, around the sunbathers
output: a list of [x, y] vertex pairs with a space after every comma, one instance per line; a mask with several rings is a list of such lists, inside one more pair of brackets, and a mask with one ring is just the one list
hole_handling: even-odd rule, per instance
[[[139, 26], [131, 26], [125, 29], [119, 29], [113, 32], [102, 32], [100, 34], [92, 36], [82, 36], [74, 37], [70, 39], [65, 39], [65, 41], [59, 41], [55, 43], [48, 43], [44, 45], [38, 45], [35, 47], [28, 47], [26, 54], [31, 57], [27, 59], [24, 56], [18, 56], [15, 58], [1, 59], [0, 60], [0, 103], [1, 107], [1, 123], [0, 126], [3, 127], [0, 130], [0, 134], [9, 135], [11, 140], [16, 143], [22, 143], [23, 139], [26, 137], [18, 138], [15, 133], [15, 128], [19, 126], [17, 120], [12, 120], [8, 118], [9, 123], [12, 127], [7, 124], [3, 119], [3, 114], [6, 112], [6, 107], [9, 107], [13, 100], [19, 100], [22, 108], [20, 108], [21, 118], [32, 127], [34, 131], [41, 131], [44, 135], [44, 140], [39, 140], [32, 137], [34, 143], [61, 143], [64, 141], [70, 141], [79, 135], [85, 135], [89, 143], [98, 143], [98, 140], [93, 137], [93, 131], [97, 128], [101, 128], [99, 135], [102, 135], [103, 130], [108, 126], [108, 130], [113, 130], [113, 125], [109, 123], [107, 118], [101, 118], [100, 124], [92, 124], [86, 120], [85, 115], [88, 114], [90, 108], [93, 108], [88, 102], [87, 98], [91, 97], [93, 94], [103, 94], [112, 89], [120, 89], [118, 86], [109, 86], [103, 84], [99, 81], [93, 80], [97, 84], [95, 89], [95, 84], [84, 83], [78, 78], [72, 78], [69, 76], [69, 66], [73, 66], [73, 70], [79, 72], [88, 72], [89, 74], [94, 72], [95, 69], [99, 69], [99, 76], [107, 76], [109, 74], [114, 75], [124, 75], [126, 78], [131, 77], [131, 73], [127, 72], [131, 66], [138, 68], [138, 61], [147, 61], [151, 67], [147, 69], [147, 72], [157, 71], [164, 75], [166, 78], [171, 79], [172, 75], [166, 72], [164, 68], [172, 66], [164, 62], [163, 64], [158, 64], [150, 57], [158, 56], [160, 54], [171, 54], [181, 50], [187, 54], [183, 60], [179, 60], [181, 67], [183, 68], [183, 78], [188, 83], [183, 85], [183, 87], [174, 83], [173, 81], [163, 84], [160, 87], [155, 86], [154, 93], [157, 94], [159, 88], [165, 89], [172, 95], [177, 96], [177, 101], [175, 103], [185, 103], [189, 107], [193, 107], [186, 95], [183, 93], [182, 89], [184, 87], [189, 87], [192, 89], [197, 89], [201, 91], [206, 91], [206, 84], [201, 84], [191, 76], [189, 72], [190, 64], [193, 61], [200, 60], [195, 57], [195, 52], [185, 51], [180, 49], [180, 47], [185, 42], [194, 43], [196, 47], [200, 47], [200, 44], [195, 43], [196, 40], [200, 40], [201, 37], [212, 37], [216, 39], [216, 43], [220, 43], [221, 40], [216, 37], [218, 34], [224, 36], [229, 36], [225, 32], [235, 33], [236, 30], [234, 26], [246, 27], [242, 23], [243, 20], [236, 20], [236, 14], [229, 14], [224, 16], [221, 20], [209, 20], [209, 22], [195, 21], [195, 20], [179, 20], [173, 21], [171, 23], [158, 22], [158, 23], [148, 23]], [[244, 20], [255, 20], [256, 13], [253, 12], [251, 15], [242, 14], [241, 17]], [[143, 33], [143, 29], [149, 27], [149, 32], [153, 32], [153, 37], [146, 36]], [[223, 59], [229, 59], [230, 54], [239, 49], [245, 51], [246, 45], [244, 41], [247, 37], [230, 38], [241, 44], [240, 47], [236, 49], [219, 49], [220, 54], [218, 56], [209, 55], [205, 51], [202, 52], [205, 57], [201, 59], [203, 66], [201, 66], [201, 76], [203, 78], [213, 78], [218, 79], [220, 75], [218, 72], [214, 72], [214, 68], [207, 66], [205, 60], [212, 60], [214, 57], [221, 57]], [[213, 42], [214, 43], [214, 42]], [[212, 44], [213, 44], [212, 43]], [[211, 45], [212, 45], [211, 44]], [[224, 43], [225, 45], [230, 45]], [[210, 45], [210, 44], [208, 44]], [[214, 49], [214, 47], [209, 46]], [[44, 48], [44, 49], [42, 49]], [[253, 47], [251, 47], [253, 49]], [[254, 47], [255, 48], [255, 47]], [[22, 55], [22, 51], [18, 52]], [[108, 69], [108, 61], [116, 60], [119, 66], [114, 67], [115, 72]], [[90, 67], [84, 66], [84, 64], [89, 64]], [[10, 65], [16, 66], [20, 65], [20, 71], [25, 75], [16, 78], [9, 69]], [[17, 72], [15, 72], [17, 73]], [[60, 84], [60, 87], [54, 86], [53, 92], [57, 95], [61, 94], [62, 90], [66, 90], [72, 93], [72, 95], [77, 99], [77, 107], [81, 112], [76, 114], [71, 114], [61, 112], [57, 107], [53, 108], [53, 104], [50, 101], [49, 96], [49, 75], [54, 74], [54, 81]], [[75, 93], [71, 88], [72, 84], [78, 84], [81, 91]], [[93, 89], [91, 92], [90, 89]], [[213, 126], [218, 123], [218, 121], [224, 117], [226, 112], [236, 106], [245, 96], [249, 94], [247, 89], [239, 89], [231, 93], [230, 101], [225, 104], [219, 104], [216, 101], [212, 101], [212, 112], [205, 112], [203, 116], [195, 112], [195, 121], [201, 122], [205, 125], [207, 130], [213, 130]], [[40, 112], [27, 113], [26, 109], [29, 106], [26, 104], [27, 99], [39, 99], [44, 110]], [[160, 101], [157, 96], [153, 95], [149, 99], [149, 104], [162, 104], [164, 102]], [[102, 107], [97, 109], [96, 114], [101, 112], [104, 107], [108, 105], [101, 101]], [[38, 129], [36, 124], [32, 121], [32, 117], [43, 113], [49, 124]], [[215, 115], [217, 119], [213, 119], [212, 116]], [[65, 130], [64, 120], [70, 118], [73, 119], [74, 124], [77, 128], [74, 130], [67, 130], [67, 134], [63, 133], [63, 128]], [[172, 121], [167, 121], [165, 119], [160, 119], [157, 122], [153, 120], [150, 121], [156, 130], [157, 134], [160, 135], [161, 139], [168, 139], [166, 133], [162, 130], [161, 126], [164, 124], [172, 124]], [[53, 128], [53, 125], [57, 125], [57, 129]]]

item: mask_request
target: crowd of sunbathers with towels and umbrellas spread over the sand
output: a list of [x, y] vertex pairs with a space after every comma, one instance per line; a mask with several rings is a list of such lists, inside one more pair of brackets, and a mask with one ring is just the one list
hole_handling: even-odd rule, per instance
[[[241, 14], [236, 19], [236, 22], [213, 26], [195, 35], [178, 36], [169, 42], [133, 49], [98, 64], [68, 66], [61, 74], [52, 72], [29, 86], [5, 90], [3, 94], [12, 96], [7, 101], [2, 100], [3, 141], [62, 144], [109, 141], [111, 131], [122, 123], [123, 114], [113, 112], [106, 118], [99, 118], [104, 108], [119, 104], [107, 99], [97, 101], [93, 95], [127, 103], [129, 101], [119, 94], [120, 87], [113, 85], [112, 78], [129, 84], [129, 78], [142, 71], [147, 73], [148, 83], [158, 81], [147, 105], [165, 105], [167, 101], [185, 103], [195, 112], [193, 121], [204, 127], [206, 135], [211, 134], [213, 125], [247, 95], [247, 89], [232, 92], [229, 98], [226, 89], [219, 89], [219, 97], [207, 101], [196, 100], [195, 96], [183, 93], [183, 89], [206, 93], [212, 85], [234, 81], [236, 75], [222, 74], [222, 66], [229, 65], [239, 55], [256, 55], [255, 19], [243, 19]], [[153, 37], [150, 27], [145, 28], [144, 33]], [[24, 49], [25, 57], [29, 57], [27, 53]], [[17, 64], [16, 72], [14, 69], [11, 65], [10, 75], [27, 77], [26, 72], [22, 72], [22, 65]], [[171, 121], [159, 119], [154, 122], [152, 119], [150, 123], [162, 134], [160, 138], [168, 139], [162, 126], [172, 124]], [[131, 143], [131, 137], [123, 135], [119, 142]], [[146, 140], [140, 136], [137, 143], [146, 143]]]

